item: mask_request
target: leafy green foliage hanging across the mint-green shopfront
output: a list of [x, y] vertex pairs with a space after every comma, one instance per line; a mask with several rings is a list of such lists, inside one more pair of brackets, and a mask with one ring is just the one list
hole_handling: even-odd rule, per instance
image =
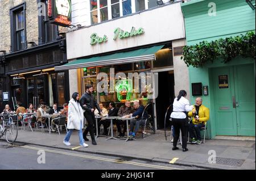
[[255, 59], [255, 33], [247, 32], [246, 35], [226, 37], [211, 41], [202, 41], [199, 44], [185, 46], [181, 60], [187, 66], [200, 68], [208, 62], [221, 59], [227, 63], [237, 56]]

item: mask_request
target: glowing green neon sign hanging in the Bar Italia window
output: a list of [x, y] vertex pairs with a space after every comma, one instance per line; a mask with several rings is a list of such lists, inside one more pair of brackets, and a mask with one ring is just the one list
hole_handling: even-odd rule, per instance
[[[117, 91], [117, 99], [119, 102], [125, 102], [131, 99], [131, 85], [127, 80], [119, 81], [115, 86], [115, 90]], [[125, 99], [122, 99], [124, 96]]]

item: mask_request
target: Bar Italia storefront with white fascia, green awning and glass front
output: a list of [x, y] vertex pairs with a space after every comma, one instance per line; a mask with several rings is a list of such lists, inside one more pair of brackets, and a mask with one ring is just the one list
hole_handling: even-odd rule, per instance
[[[89, 1], [85, 2], [90, 5]], [[67, 33], [69, 63], [55, 67], [55, 70], [69, 70], [69, 91], [83, 94], [85, 85], [90, 83], [97, 89], [97, 101], [106, 107], [110, 101], [119, 107], [126, 99], [140, 100], [143, 105], [153, 103], [155, 127], [163, 128], [167, 107], [180, 89], [189, 90], [188, 69], [180, 60], [185, 45], [180, 3], [92, 24], [85, 23], [87, 27]], [[107, 93], [98, 91], [97, 84], [102, 80], [100, 73], [107, 75]], [[138, 73], [139, 91], [135, 91], [134, 82], [131, 90], [129, 84], [123, 85], [128, 87], [125, 91], [118, 91], [117, 85], [111, 90], [111, 82], [120, 80], [117, 73], [123, 73], [119, 74], [122, 78]], [[150, 81], [142, 85], [143, 78]], [[146, 87], [144, 92], [143, 87]]]

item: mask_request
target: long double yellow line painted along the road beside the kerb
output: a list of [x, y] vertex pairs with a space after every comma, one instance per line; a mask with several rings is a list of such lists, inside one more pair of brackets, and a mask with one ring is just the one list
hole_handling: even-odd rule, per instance
[[68, 153], [68, 152], [64, 152], [64, 151], [49, 150], [49, 149], [41, 149], [41, 148], [36, 148], [36, 147], [33, 147], [33, 146], [20, 146], [20, 147], [22, 147], [22, 148], [27, 148], [27, 149], [34, 149], [34, 150], [44, 150], [44, 151], [48, 151], [48, 152], [50, 152], [50, 153], [59, 153], [59, 154], [71, 155], [71, 156], [75, 156], [75, 157], [90, 158], [90, 159], [98, 159], [98, 160], [101, 160], [101, 161], [108, 161], [108, 162], [114, 162], [114, 163], [124, 163], [124, 164], [129, 164], [129, 165], [137, 165], [137, 166], [144, 166], [144, 167], [152, 167], [152, 168], [156, 168], [156, 169], [184, 170], [184, 169], [177, 169], [177, 168], [166, 167], [166, 166], [159, 166], [159, 165], [150, 165], [150, 164], [138, 163], [138, 162], [118, 161], [118, 160], [110, 159], [110, 158], [94, 157], [94, 156], [89, 156], [89, 155], [82, 155], [82, 154], [76, 154], [76, 153]]

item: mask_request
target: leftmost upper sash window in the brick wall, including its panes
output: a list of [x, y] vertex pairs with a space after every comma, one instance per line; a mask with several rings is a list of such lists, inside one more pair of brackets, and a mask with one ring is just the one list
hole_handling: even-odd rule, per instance
[[27, 48], [26, 41], [26, 3], [10, 10], [11, 16], [11, 50], [18, 51]]

